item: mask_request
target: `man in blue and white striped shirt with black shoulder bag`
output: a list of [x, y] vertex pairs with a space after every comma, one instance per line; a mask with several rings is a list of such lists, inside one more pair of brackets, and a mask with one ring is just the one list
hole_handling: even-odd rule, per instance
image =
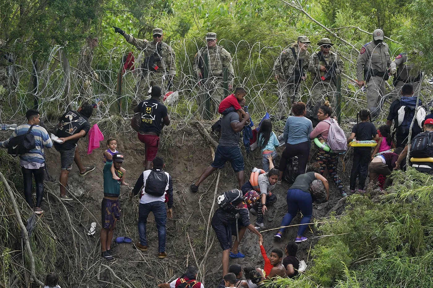
[[[26, 112], [27, 124], [19, 125], [15, 131], [13, 131], [10, 138], [6, 141], [0, 143], [0, 147], [7, 148], [9, 147], [10, 139], [26, 134], [29, 131], [30, 126], [32, 130], [30, 134], [33, 135], [35, 139], [35, 149], [29, 151], [29, 153], [25, 153], [19, 155], [19, 166], [23, 170], [23, 182], [24, 182], [24, 196], [26, 197], [27, 203], [29, 203], [30, 207], [33, 208], [33, 211], [36, 214], [42, 214], [43, 210], [41, 209], [42, 197], [44, 196], [44, 147], [51, 148], [53, 143], [51, 141], [48, 132], [45, 128], [39, 126], [40, 115], [39, 112], [30, 109]], [[36, 205], [33, 207], [33, 199], [32, 199], [32, 174], [35, 176], [35, 184], [36, 184]]]

